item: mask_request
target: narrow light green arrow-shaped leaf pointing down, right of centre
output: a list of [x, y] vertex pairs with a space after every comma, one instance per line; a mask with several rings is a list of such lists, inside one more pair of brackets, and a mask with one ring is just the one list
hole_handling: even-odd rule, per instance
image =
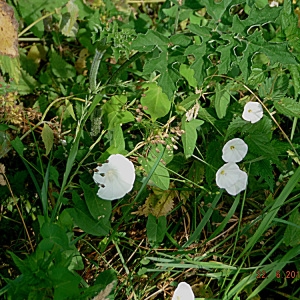
[[186, 121], [186, 117], [182, 120], [182, 129], [184, 134], [181, 136], [182, 145], [185, 157], [188, 158], [193, 155], [197, 141], [197, 128], [204, 123], [202, 120], [192, 119], [190, 122]]

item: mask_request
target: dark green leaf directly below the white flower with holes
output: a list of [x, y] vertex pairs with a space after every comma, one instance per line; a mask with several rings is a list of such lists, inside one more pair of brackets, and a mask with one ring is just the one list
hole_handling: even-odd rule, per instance
[[95, 220], [102, 220], [108, 223], [111, 215], [111, 201], [100, 199], [97, 196], [97, 188], [91, 188], [82, 180], [79, 181], [84, 192], [84, 199], [90, 214]]

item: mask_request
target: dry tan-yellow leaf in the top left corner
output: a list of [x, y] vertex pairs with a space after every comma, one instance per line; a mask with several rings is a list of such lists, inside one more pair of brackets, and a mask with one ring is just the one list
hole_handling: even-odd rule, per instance
[[14, 17], [14, 10], [2, 1], [0, 1], [0, 54], [19, 56], [18, 22]]

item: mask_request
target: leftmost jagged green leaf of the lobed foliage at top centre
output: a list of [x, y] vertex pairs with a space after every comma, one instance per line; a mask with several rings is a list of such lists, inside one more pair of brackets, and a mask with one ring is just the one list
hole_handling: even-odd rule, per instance
[[166, 48], [168, 43], [169, 39], [161, 33], [148, 30], [146, 34], [138, 34], [137, 38], [132, 41], [131, 50], [150, 52], [156, 47], [159, 49]]

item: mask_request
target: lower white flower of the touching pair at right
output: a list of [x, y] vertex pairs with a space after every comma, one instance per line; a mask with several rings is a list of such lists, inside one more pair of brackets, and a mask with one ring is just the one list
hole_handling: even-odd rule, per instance
[[241, 171], [236, 163], [229, 162], [223, 165], [216, 174], [218, 187], [225, 189], [228, 194], [235, 196], [246, 189], [248, 175]]

